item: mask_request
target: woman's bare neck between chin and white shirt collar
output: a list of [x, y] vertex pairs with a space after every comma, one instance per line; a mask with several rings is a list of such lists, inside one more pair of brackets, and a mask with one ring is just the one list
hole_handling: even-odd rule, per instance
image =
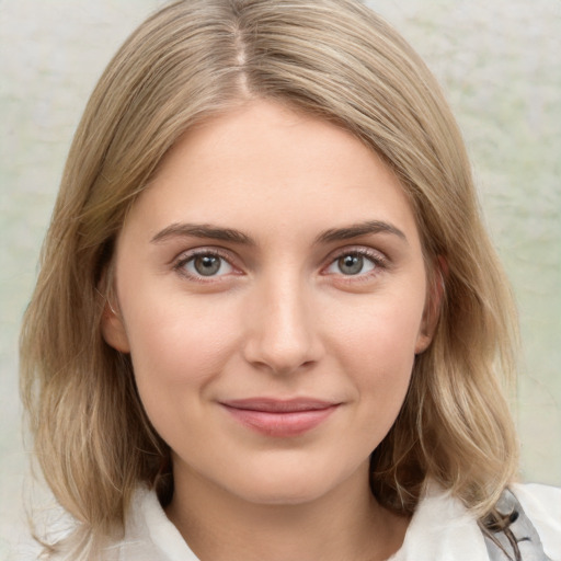
[[400, 548], [409, 523], [374, 499], [367, 466], [298, 504], [245, 501], [178, 471], [167, 514], [202, 561], [381, 561]]

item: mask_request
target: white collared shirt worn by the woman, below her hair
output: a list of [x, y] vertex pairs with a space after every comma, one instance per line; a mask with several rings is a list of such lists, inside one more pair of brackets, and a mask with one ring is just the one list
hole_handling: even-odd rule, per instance
[[[536, 528], [547, 557], [561, 561], [561, 489], [514, 484], [511, 490]], [[9, 559], [35, 561], [38, 551], [36, 546], [27, 543], [15, 553]], [[111, 547], [104, 558], [112, 561], [199, 561], [165, 516], [156, 493], [147, 489], [139, 489], [134, 496], [125, 539]], [[523, 556], [523, 559], [526, 558]], [[489, 560], [474, 516], [448, 492], [428, 484], [402, 547], [388, 561]]]

